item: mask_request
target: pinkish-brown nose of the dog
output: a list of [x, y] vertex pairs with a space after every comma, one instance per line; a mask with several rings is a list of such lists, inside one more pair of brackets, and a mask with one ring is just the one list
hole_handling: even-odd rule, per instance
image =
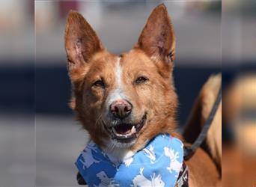
[[110, 111], [115, 117], [124, 118], [131, 113], [132, 104], [125, 99], [116, 100], [110, 105]]

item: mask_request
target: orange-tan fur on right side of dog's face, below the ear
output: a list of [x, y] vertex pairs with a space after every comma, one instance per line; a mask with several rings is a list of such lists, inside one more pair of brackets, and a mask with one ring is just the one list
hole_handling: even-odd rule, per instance
[[[141, 129], [141, 135], [138, 137], [138, 144], [133, 149], [138, 150], [136, 145], [141, 145], [147, 139], [153, 138], [160, 132], [173, 133], [176, 126], [174, 119], [177, 108], [177, 96], [171, 82], [170, 73], [162, 75], [162, 71], [156, 63], [145, 55], [141, 49], [133, 49], [124, 55], [124, 80], [131, 82], [138, 75], [146, 75], [150, 82], [147, 85], [141, 85], [141, 88], [128, 88], [131, 93], [131, 99], [135, 100], [138, 108], [137, 113], [147, 110], [148, 121], [147, 128]], [[141, 67], [144, 67], [141, 69]], [[132, 75], [133, 74], [133, 75]], [[134, 76], [134, 77], [133, 77]], [[167, 78], [166, 78], [167, 77]]]

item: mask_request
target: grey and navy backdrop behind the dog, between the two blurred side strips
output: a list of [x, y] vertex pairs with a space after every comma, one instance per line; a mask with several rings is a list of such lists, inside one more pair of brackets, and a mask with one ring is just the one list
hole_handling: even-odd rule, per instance
[[[103, 44], [115, 54], [135, 45], [150, 12], [162, 1], [36, 1], [35, 105], [37, 186], [76, 186], [73, 162], [85, 147], [67, 102], [64, 27], [69, 10], [88, 20]], [[199, 89], [221, 71], [221, 2], [166, 1], [177, 36], [174, 80], [185, 123]], [[207, 44], [209, 43], [209, 44]], [[189, 84], [188, 84], [189, 81]]]

